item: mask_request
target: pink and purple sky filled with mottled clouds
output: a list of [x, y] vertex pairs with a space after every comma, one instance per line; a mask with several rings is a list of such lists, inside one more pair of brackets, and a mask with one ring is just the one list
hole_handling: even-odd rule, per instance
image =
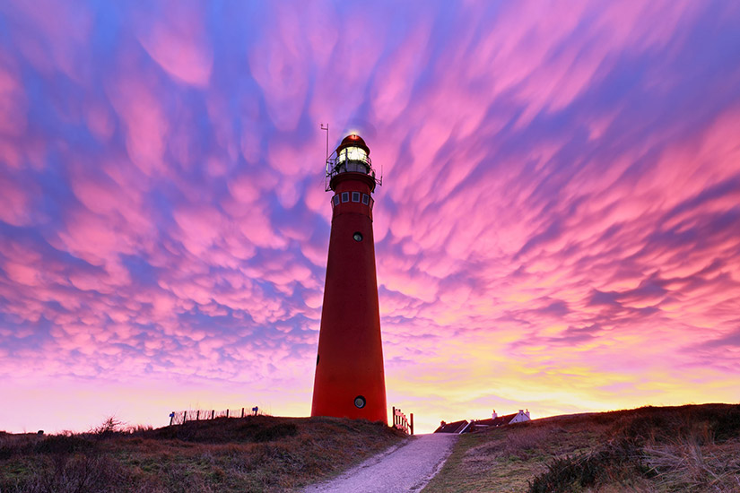
[[740, 4], [0, 3], [0, 429], [307, 416], [333, 149], [417, 431], [740, 401]]

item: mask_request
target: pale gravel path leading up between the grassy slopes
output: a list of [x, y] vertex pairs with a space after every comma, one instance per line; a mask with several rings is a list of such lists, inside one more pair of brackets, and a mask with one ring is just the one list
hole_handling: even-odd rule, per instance
[[440, 471], [457, 435], [436, 433], [411, 438], [370, 457], [335, 480], [309, 486], [305, 493], [384, 493], [421, 491]]

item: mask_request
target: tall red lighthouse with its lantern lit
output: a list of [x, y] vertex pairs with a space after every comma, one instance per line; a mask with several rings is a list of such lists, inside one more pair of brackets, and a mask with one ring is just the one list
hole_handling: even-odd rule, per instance
[[326, 180], [332, 229], [311, 416], [387, 424], [372, 237], [371, 195], [380, 182], [359, 135], [344, 137], [326, 160]]

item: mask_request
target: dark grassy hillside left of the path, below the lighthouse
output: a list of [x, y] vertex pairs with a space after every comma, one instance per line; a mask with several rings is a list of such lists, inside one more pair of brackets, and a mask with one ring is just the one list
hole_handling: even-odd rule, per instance
[[330, 477], [405, 435], [335, 418], [190, 421], [56, 436], [0, 432], [0, 492], [285, 491]]

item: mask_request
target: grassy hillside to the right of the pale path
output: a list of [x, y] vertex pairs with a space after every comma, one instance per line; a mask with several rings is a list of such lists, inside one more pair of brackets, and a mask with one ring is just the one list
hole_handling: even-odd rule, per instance
[[424, 493], [740, 491], [740, 405], [644, 407], [462, 435]]

